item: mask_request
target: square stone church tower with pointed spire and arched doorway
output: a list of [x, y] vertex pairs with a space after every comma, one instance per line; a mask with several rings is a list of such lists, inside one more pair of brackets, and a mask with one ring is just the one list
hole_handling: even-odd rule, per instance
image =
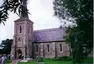
[[[26, 0], [23, 0], [26, 7]], [[26, 13], [23, 13], [26, 12]], [[11, 47], [11, 55], [15, 58], [32, 57], [33, 22], [29, 20], [27, 11], [22, 9], [20, 19], [14, 21], [14, 38]]]

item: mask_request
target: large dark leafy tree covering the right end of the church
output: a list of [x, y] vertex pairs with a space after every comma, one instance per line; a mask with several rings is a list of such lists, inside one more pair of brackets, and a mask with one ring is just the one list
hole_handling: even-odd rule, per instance
[[54, 15], [74, 19], [77, 26], [68, 28], [66, 40], [72, 48], [73, 63], [82, 63], [93, 49], [93, 0], [54, 0]]

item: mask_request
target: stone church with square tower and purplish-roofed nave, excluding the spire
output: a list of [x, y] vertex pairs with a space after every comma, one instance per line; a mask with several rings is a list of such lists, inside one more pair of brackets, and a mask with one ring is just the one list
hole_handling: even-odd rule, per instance
[[70, 55], [69, 45], [65, 42], [65, 28], [33, 30], [33, 22], [29, 19], [18, 19], [14, 23], [11, 55], [15, 58], [21, 55], [26, 58]]

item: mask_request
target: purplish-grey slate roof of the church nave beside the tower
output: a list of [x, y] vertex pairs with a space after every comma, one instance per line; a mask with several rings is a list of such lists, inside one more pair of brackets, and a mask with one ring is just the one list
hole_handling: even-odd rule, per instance
[[53, 28], [34, 31], [34, 42], [64, 41], [65, 28]]

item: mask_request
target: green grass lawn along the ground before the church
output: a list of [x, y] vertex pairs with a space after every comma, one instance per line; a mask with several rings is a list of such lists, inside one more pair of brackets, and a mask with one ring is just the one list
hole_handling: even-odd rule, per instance
[[[11, 60], [7, 60], [6, 64], [10, 64]], [[19, 64], [37, 64], [36, 60], [29, 61], [27, 63], [19, 62]], [[54, 59], [44, 59], [44, 64], [72, 64], [72, 61], [56, 61]], [[83, 64], [93, 64], [93, 58], [87, 58]]]

